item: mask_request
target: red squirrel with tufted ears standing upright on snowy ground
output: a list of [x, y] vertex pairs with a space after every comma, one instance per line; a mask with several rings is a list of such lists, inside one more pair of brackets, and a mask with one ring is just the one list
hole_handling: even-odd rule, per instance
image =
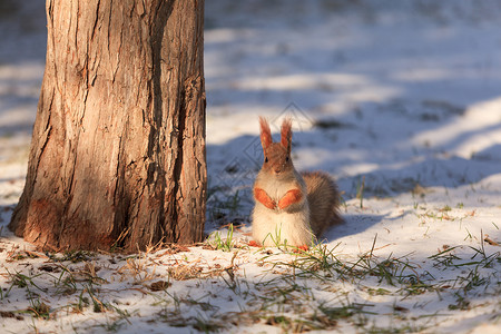
[[259, 126], [264, 163], [253, 189], [254, 242], [307, 248], [330, 226], [343, 222], [337, 186], [325, 173], [296, 171], [291, 158], [291, 119], [282, 124], [279, 143], [273, 143], [265, 118], [259, 117]]

